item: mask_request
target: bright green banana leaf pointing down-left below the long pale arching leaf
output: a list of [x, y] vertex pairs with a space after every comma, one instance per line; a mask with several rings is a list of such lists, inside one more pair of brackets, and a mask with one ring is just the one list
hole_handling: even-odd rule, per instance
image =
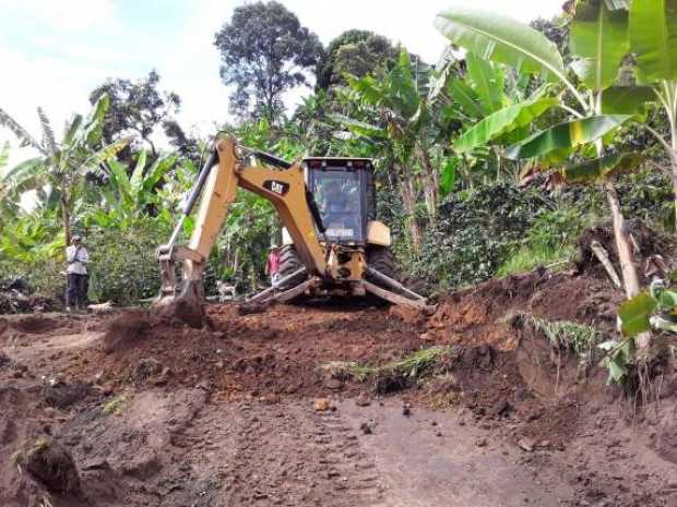
[[533, 102], [508, 106], [494, 114], [489, 114], [472, 129], [465, 131], [454, 142], [453, 147], [458, 153], [470, 152], [476, 146], [484, 145], [500, 135], [528, 125], [557, 104], [557, 99], [542, 98]]

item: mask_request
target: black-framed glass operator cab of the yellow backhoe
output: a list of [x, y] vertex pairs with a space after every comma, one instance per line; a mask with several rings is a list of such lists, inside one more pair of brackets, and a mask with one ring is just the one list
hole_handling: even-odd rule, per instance
[[376, 216], [371, 159], [306, 158], [304, 165], [326, 239], [337, 244], [365, 244], [368, 221]]

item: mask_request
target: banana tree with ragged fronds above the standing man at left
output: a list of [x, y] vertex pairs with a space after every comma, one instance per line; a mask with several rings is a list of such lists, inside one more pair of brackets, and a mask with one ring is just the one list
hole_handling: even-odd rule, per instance
[[114, 159], [127, 145], [127, 140], [102, 146], [103, 120], [108, 109], [108, 96], [103, 95], [87, 118], [73, 116], [66, 125], [61, 142], [57, 142], [49, 119], [38, 108], [43, 140], [38, 142], [12, 117], [0, 109], [0, 126], [12, 130], [24, 146], [35, 148], [39, 155], [10, 169], [3, 177], [16, 197], [29, 190], [46, 188], [59, 197], [66, 241], [71, 239], [71, 219], [76, 197], [84, 188], [85, 176], [100, 172], [102, 165]]

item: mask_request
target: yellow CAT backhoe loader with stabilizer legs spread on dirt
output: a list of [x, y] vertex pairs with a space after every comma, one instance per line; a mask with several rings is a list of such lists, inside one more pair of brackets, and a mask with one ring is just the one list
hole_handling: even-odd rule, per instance
[[[249, 302], [371, 293], [395, 304], [426, 306], [425, 298], [393, 278], [390, 229], [376, 220], [370, 159], [313, 157], [292, 164], [234, 138], [216, 142], [169, 242], [157, 250], [157, 306], [202, 326], [204, 263], [238, 186], [268, 198], [284, 226], [280, 279]], [[193, 233], [188, 245], [179, 245], [183, 220], [201, 194]], [[180, 277], [177, 263], [182, 264]]]

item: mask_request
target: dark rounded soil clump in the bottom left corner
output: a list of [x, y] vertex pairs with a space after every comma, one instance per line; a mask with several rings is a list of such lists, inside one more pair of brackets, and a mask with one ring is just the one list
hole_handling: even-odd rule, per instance
[[25, 468], [50, 493], [80, 493], [80, 475], [73, 457], [56, 440], [38, 440], [26, 454]]

